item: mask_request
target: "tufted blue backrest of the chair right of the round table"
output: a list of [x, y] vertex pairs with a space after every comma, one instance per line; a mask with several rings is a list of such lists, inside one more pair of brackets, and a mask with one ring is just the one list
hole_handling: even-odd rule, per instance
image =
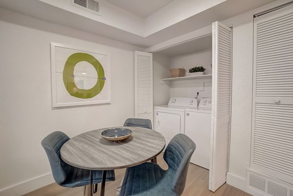
[[179, 196], [184, 191], [189, 161], [195, 148], [195, 143], [188, 136], [179, 133], [172, 138], [164, 152], [168, 170], [174, 172], [173, 181], [170, 182], [172, 191]]

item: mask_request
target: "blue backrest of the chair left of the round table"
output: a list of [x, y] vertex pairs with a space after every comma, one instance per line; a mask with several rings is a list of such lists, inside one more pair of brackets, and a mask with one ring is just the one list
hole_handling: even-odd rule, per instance
[[66, 174], [69, 174], [72, 169], [60, 158], [60, 149], [67, 140], [69, 140], [69, 137], [65, 133], [55, 131], [47, 135], [41, 142], [48, 156], [54, 180], [59, 185], [66, 179]]

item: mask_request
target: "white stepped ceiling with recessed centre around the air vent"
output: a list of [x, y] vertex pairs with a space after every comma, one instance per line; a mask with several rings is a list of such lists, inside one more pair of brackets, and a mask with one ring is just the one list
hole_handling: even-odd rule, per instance
[[[102, 3], [101, 16], [72, 6], [71, 0], [0, 0], [0, 7], [148, 48], [274, 0], [101, 0], [103, 1], [105, 3]], [[146, 12], [143, 13], [143, 10]], [[142, 13], [141, 16], [144, 17], [151, 15], [143, 19], [138, 13]], [[8, 16], [1, 20], [11, 21]], [[23, 20], [14, 22], [27, 25]], [[43, 30], [42, 26], [34, 25], [33, 22], [30, 25]]]

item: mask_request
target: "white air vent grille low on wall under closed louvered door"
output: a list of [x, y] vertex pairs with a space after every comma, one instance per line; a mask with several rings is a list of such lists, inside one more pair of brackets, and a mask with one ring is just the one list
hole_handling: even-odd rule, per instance
[[293, 185], [272, 176], [247, 170], [246, 185], [264, 196], [293, 196]]

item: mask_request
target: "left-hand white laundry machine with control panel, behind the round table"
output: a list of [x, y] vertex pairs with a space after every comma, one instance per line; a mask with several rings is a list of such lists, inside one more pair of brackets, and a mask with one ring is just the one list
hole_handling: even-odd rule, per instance
[[154, 130], [165, 137], [166, 147], [176, 134], [184, 133], [185, 109], [192, 108], [197, 108], [197, 99], [186, 97], [172, 97], [168, 105], [154, 107]]

